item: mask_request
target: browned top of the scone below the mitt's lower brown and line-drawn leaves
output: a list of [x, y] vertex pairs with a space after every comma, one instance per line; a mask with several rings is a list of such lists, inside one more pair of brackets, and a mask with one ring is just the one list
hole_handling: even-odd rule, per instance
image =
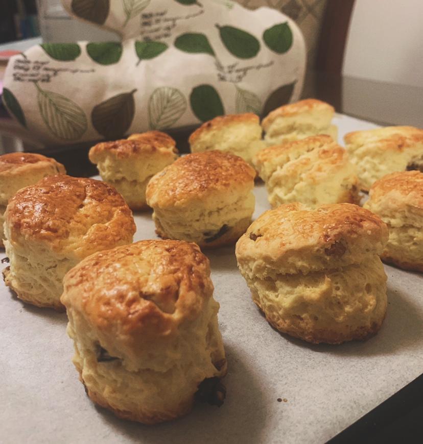
[[176, 143], [172, 137], [160, 131], [132, 134], [128, 139], [100, 142], [89, 150], [89, 160], [99, 161], [102, 155], [108, 154], [118, 159], [143, 156], [146, 153], [177, 154]]

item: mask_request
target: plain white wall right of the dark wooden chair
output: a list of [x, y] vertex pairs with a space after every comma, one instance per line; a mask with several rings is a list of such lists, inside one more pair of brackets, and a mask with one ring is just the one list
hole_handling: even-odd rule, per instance
[[423, 0], [356, 0], [343, 74], [423, 87]]

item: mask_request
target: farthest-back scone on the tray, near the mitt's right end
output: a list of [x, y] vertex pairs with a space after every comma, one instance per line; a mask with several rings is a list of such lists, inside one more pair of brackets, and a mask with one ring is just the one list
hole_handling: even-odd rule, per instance
[[338, 128], [331, 124], [334, 114], [333, 106], [315, 98], [281, 106], [262, 121], [265, 141], [277, 145], [317, 134], [327, 134], [336, 141]]

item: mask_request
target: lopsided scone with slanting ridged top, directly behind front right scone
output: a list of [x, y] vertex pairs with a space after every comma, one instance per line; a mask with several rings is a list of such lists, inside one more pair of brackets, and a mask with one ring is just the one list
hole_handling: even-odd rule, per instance
[[359, 202], [356, 167], [330, 136], [269, 146], [256, 154], [254, 164], [273, 208], [290, 202], [312, 208]]

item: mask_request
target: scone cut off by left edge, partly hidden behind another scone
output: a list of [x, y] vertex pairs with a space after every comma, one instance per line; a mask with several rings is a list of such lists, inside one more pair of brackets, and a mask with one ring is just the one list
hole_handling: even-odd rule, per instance
[[0, 156], [0, 246], [3, 246], [4, 214], [9, 199], [17, 190], [56, 174], [66, 174], [65, 167], [41, 154], [9, 153]]

